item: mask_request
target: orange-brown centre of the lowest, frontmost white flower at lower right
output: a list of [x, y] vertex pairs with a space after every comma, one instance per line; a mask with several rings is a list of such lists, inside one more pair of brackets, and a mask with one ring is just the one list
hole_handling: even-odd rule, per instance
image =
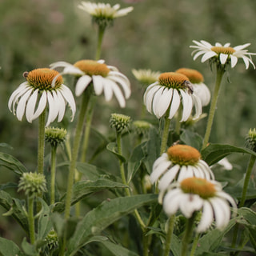
[[183, 192], [198, 194], [201, 198], [212, 198], [216, 194], [214, 184], [205, 178], [185, 178], [180, 184]]

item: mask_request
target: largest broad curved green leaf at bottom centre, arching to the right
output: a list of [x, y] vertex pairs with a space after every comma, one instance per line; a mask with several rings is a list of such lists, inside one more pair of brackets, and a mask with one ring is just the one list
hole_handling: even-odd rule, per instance
[[79, 222], [77, 230], [67, 246], [68, 255], [77, 251], [90, 237], [99, 234], [122, 216], [143, 205], [155, 202], [157, 197], [157, 194], [139, 194], [102, 202]]

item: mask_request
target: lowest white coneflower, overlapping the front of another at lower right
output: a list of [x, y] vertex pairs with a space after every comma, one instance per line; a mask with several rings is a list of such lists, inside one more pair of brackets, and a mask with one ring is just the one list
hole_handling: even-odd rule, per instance
[[191, 218], [194, 212], [202, 210], [198, 233], [205, 232], [214, 219], [218, 229], [224, 228], [230, 221], [230, 205], [236, 210], [234, 199], [222, 191], [220, 183], [195, 177], [172, 184], [163, 199], [163, 210], [169, 216], [180, 210]]

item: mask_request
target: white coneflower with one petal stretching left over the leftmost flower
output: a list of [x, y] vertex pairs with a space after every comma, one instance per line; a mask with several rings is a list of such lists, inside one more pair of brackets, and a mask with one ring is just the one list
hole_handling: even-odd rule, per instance
[[[128, 78], [114, 66], [107, 66], [102, 60], [81, 60], [74, 65], [68, 62], [55, 62], [50, 65], [52, 69], [64, 67], [61, 74], [73, 74], [78, 77], [75, 86], [76, 96], [80, 96], [92, 82], [96, 95], [105, 94], [106, 102], [115, 94], [121, 107], [126, 106], [126, 99], [130, 97], [130, 82]], [[120, 87], [122, 87], [122, 90]]]

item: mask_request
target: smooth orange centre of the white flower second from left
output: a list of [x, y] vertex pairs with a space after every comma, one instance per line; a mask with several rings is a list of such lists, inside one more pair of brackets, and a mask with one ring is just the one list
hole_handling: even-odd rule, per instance
[[74, 63], [74, 66], [79, 70], [82, 70], [86, 74], [92, 75], [101, 75], [103, 78], [110, 73], [110, 69], [104, 63], [98, 63], [93, 60], [81, 60]]

